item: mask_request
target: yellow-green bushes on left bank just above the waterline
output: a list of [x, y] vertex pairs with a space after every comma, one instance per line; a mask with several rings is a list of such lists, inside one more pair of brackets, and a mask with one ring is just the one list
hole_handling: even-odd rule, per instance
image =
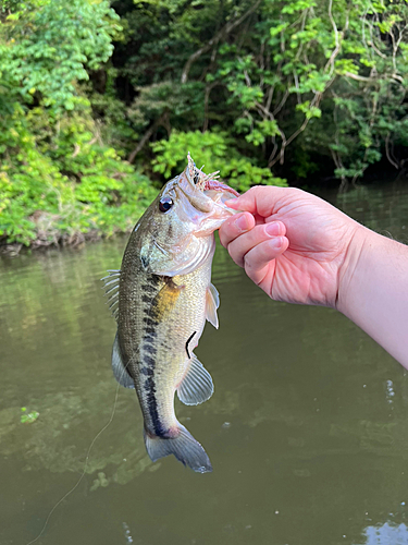
[[18, 153], [0, 170], [0, 237], [48, 244], [129, 230], [156, 195], [149, 180], [97, 142], [90, 118], [65, 114], [41, 132], [47, 119], [37, 108], [11, 131], [18, 131]]

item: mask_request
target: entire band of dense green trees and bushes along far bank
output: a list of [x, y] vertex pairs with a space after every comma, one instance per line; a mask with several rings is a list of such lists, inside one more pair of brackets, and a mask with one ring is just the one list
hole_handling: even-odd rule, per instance
[[0, 23], [0, 241], [127, 230], [187, 150], [239, 191], [404, 167], [406, 0], [2, 0]]

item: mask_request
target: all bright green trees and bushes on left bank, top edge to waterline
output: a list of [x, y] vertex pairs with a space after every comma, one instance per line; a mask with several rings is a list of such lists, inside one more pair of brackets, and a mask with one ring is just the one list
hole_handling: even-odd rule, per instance
[[156, 191], [104, 144], [77, 83], [110, 57], [118, 15], [107, 1], [5, 8], [0, 239], [44, 245], [131, 229]]

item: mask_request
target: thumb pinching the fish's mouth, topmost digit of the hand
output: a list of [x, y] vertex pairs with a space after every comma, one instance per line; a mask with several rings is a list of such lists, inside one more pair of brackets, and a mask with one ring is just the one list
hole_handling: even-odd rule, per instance
[[283, 196], [294, 192], [293, 187], [276, 187], [274, 185], [256, 185], [248, 190], [240, 197], [226, 201], [225, 204], [234, 210], [249, 211], [254, 215], [259, 214], [262, 217], [274, 213], [275, 204]]

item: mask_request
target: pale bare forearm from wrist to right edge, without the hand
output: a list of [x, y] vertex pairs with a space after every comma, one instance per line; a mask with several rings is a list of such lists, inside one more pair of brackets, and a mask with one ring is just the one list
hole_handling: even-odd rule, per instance
[[361, 227], [338, 287], [337, 310], [408, 368], [408, 246]]

